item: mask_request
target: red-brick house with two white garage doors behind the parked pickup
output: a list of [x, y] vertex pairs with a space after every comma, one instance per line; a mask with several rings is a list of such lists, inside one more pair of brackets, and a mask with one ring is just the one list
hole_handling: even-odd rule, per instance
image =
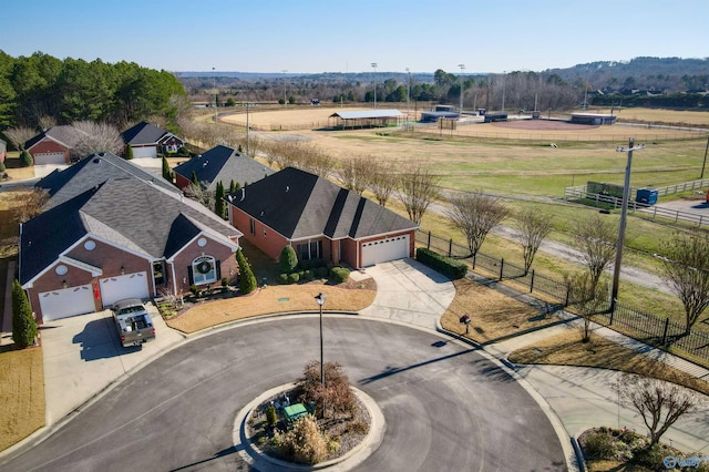
[[[50, 201], [20, 226], [19, 279], [39, 322], [123, 298], [178, 296], [237, 273], [237, 229], [113, 160], [90, 156], [43, 179]], [[100, 170], [107, 178], [96, 183]]]

